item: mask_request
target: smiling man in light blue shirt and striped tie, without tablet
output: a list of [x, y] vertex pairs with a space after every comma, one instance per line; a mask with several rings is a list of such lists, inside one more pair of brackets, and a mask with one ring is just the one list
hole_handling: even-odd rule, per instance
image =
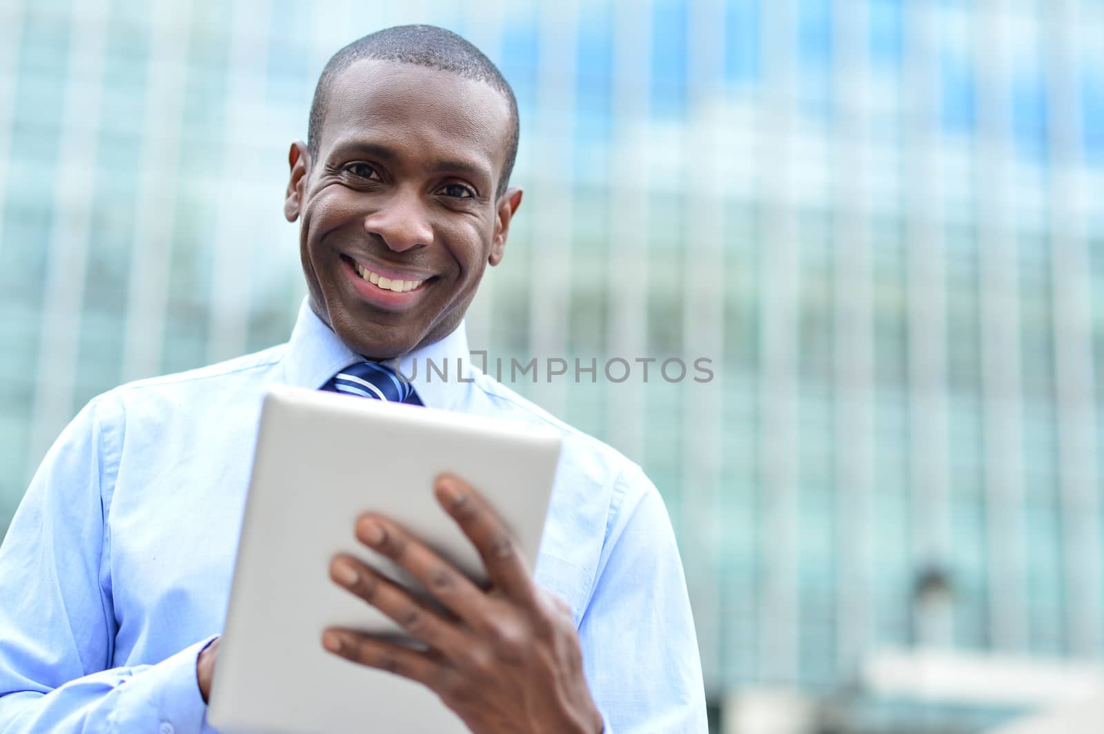
[[[261, 396], [280, 384], [382, 396], [372, 376], [393, 375], [381, 360], [466, 360], [464, 313], [521, 204], [508, 187], [517, 141], [512, 90], [455, 34], [389, 29], [335, 55], [308, 142], [289, 152], [285, 214], [300, 222], [308, 290], [291, 338], [112, 390], [51, 449], [0, 551], [0, 732], [213, 731], [205, 700]], [[537, 568], [475, 488], [442, 477], [437, 498], [492, 587], [386, 518], [350, 518], [350, 533], [450, 614], [340, 557], [333, 582], [429, 649], [342, 629], [319, 644], [429, 687], [477, 734], [704, 732], [686, 584], [655, 487], [470, 367], [471, 381], [420, 374], [390, 397], [562, 433]]]

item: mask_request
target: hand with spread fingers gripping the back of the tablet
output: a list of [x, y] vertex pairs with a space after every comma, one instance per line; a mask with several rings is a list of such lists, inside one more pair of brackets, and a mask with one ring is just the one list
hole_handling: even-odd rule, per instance
[[340, 628], [327, 629], [322, 645], [353, 662], [426, 686], [476, 734], [602, 732], [571, 609], [537, 586], [513, 538], [475, 489], [443, 476], [435, 492], [479, 551], [491, 589], [480, 590], [397, 525], [369, 514], [357, 522], [361, 542], [410, 572], [452, 615], [431, 611], [342, 554], [330, 564], [333, 581], [428, 649]]

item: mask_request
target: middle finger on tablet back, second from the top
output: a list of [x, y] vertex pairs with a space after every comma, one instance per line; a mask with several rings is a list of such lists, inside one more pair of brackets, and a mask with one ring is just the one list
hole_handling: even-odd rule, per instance
[[488, 604], [484, 592], [402, 527], [379, 516], [365, 515], [357, 521], [357, 538], [402, 566], [468, 625], [477, 626], [477, 620], [485, 616]]

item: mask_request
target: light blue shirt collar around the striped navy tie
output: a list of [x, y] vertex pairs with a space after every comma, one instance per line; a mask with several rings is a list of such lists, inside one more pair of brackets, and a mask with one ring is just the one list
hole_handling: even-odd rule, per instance
[[[317, 390], [341, 369], [363, 360], [364, 357], [347, 347], [318, 317], [308, 299], [304, 299], [283, 359], [287, 384]], [[469, 360], [467, 330], [461, 321], [445, 338], [403, 355], [400, 365], [426, 407], [449, 410], [466, 387], [466, 382], [458, 379], [458, 370], [467, 375]], [[429, 363], [447, 369], [447, 379], [427, 369]], [[393, 359], [385, 364], [395, 367]]]

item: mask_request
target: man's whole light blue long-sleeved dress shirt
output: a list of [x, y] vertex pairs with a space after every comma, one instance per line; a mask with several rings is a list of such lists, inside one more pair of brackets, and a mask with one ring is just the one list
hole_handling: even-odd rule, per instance
[[[431, 408], [562, 433], [535, 576], [571, 605], [607, 732], [705, 732], [686, 581], [655, 486], [475, 369], [463, 325], [410, 358]], [[77, 414], [0, 548], [0, 732], [214, 731], [195, 661], [223, 628], [262, 397], [318, 388], [358, 359], [305, 303], [285, 345], [123, 386]], [[449, 379], [426, 359], [447, 359]]]

